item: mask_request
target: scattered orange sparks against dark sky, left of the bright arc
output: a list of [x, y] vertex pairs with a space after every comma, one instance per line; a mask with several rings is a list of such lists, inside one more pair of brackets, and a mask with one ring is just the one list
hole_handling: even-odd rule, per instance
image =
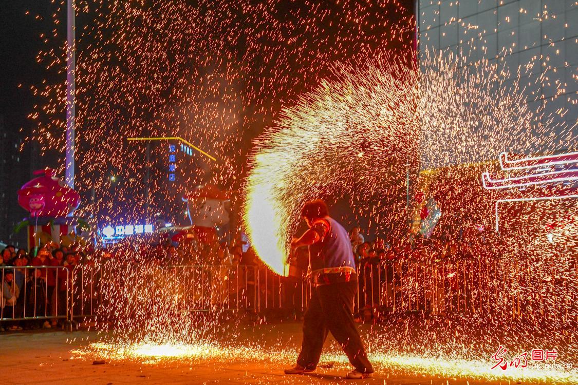
[[[66, 1], [54, 1], [54, 29], [38, 55], [47, 80], [32, 85], [30, 118], [40, 155], [64, 154]], [[251, 139], [279, 106], [312, 89], [332, 62], [373, 50], [410, 51], [413, 16], [398, 0], [280, 2], [77, 1], [77, 189], [93, 191], [79, 215], [142, 218], [146, 204], [175, 211], [176, 193], [201, 183], [238, 189]], [[34, 16], [34, 15], [32, 15]], [[64, 38], [64, 40], [63, 40]], [[219, 160], [194, 156], [166, 184], [165, 147], [127, 137], [183, 137]], [[105, 140], [106, 138], [106, 140]], [[196, 155], [196, 154], [195, 154]], [[60, 163], [61, 170], [64, 162]], [[150, 178], [142, 175], [150, 167]], [[158, 167], [155, 167], [158, 166]], [[110, 184], [112, 172], [123, 174]], [[146, 192], [155, 201], [146, 202]], [[173, 203], [176, 201], [176, 203]], [[114, 205], [114, 206], [113, 206]], [[172, 205], [172, 206], [171, 206]]]

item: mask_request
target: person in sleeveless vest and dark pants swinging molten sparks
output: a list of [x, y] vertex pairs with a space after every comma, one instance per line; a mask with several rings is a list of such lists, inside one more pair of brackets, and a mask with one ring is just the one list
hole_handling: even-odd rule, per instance
[[329, 216], [322, 200], [309, 201], [301, 210], [309, 230], [294, 238], [291, 248], [309, 246], [313, 289], [303, 319], [303, 343], [297, 365], [286, 374], [312, 372], [317, 367], [327, 333], [335, 337], [355, 368], [348, 379], [370, 377], [373, 368], [353, 321], [357, 273], [349, 234]]

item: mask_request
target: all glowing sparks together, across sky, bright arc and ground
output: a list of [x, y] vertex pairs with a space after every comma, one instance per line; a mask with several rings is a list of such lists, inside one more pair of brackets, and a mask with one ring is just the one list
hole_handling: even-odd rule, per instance
[[[199, 157], [183, 166], [181, 186], [213, 182], [236, 190], [243, 181], [243, 219], [251, 242], [283, 275], [299, 207], [308, 199], [349, 200], [358, 218], [369, 219], [367, 234], [387, 233], [387, 241], [397, 244], [407, 241], [413, 213], [406, 205], [406, 178], [412, 186], [436, 180], [431, 195], [444, 213], [438, 229], [451, 238], [464, 224], [492, 227], [493, 204], [503, 196], [479, 183], [489, 160], [502, 151], [576, 149], [576, 126], [560, 123], [567, 111], [546, 114], [545, 104], [526, 103], [532, 101], [527, 95], [533, 80], [563, 94], [566, 84], [550, 84], [546, 75], [548, 57], [518, 70], [499, 60], [462, 65], [465, 53], [430, 52], [418, 65], [405, 54], [411, 51], [414, 19], [396, 0], [191, 3], [77, 1], [79, 18], [87, 20], [76, 32], [77, 180], [80, 192], [94, 189], [79, 214], [109, 222], [122, 207], [124, 219], [143, 218], [150, 204], [144, 190], [150, 187], [159, 201], [174, 197], [162, 167], [158, 174], [151, 167], [150, 186], [144, 188], [142, 175], [154, 164], [145, 164], [142, 148], [123, 140], [183, 137], [220, 162]], [[61, 26], [65, 2], [54, 4], [54, 24]], [[547, 17], [543, 12], [539, 21]], [[483, 38], [477, 26], [468, 31]], [[54, 28], [42, 39], [64, 42], [61, 32]], [[39, 54], [55, 79], [65, 78], [64, 53], [47, 48]], [[45, 81], [32, 92], [39, 98], [30, 116], [38, 125], [32, 139], [39, 141], [40, 155], [64, 154], [64, 83]], [[244, 178], [250, 140], [265, 127]], [[163, 154], [153, 149], [153, 158]], [[448, 165], [462, 166], [442, 167]], [[427, 171], [418, 177], [420, 168]], [[120, 182], [107, 177], [112, 172]], [[517, 379], [522, 372], [490, 371], [489, 357], [499, 345], [518, 352], [556, 348], [562, 364], [575, 364], [578, 208], [556, 206], [569, 219], [548, 230], [545, 242], [544, 221], [535, 211], [552, 207], [536, 203], [517, 218], [510, 214], [504, 226], [509, 233], [495, 243], [496, 250], [447, 263], [442, 282], [457, 282], [464, 264], [464, 274], [477, 280], [460, 287], [458, 304], [474, 302], [468, 313], [408, 317], [424, 288], [431, 289], [432, 300], [438, 293], [433, 276], [407, 274], [399, 312], [369, 336], [376, 366]], [[233, 278], [219, 267], [157, 266], [154, 250], [138, 239], [116, 251], [101, 277], [104, 300], [98, 309], [99, 328], [115, 337], [75, 352], [78, 357], [284, 364], [295, 357], [291, 349], [217, 341], [218, 335], [237, 338], [221, 321], [238, 322], [228, 312], [231, 298], [220, 294], [233, 286]], [[210, 316], [195, 312], [198, 307]], [[332, 352], [323, 360], [344, 357]], [[575, 383], [577, 377], [575, 370], [538, 367], [523, 373], [552, 382]]]

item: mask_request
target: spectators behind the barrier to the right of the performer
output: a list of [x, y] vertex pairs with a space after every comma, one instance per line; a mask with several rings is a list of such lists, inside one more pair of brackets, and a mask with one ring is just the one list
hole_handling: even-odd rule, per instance
[[[470, 306], [471, 293], [465, 287], [468, 282], [460, 274], [464, 275], [467, 264], [479, 268], [481, 260], [496, 260], [501, 248], [496, 234], [477, 228], [443, 237], [406, 234], [388, 241], [375, 237], [366, 242], [360, 228], [354, 227], [350, 240], [360, 285], [356, 304], [358, 322], [373, 322], [377, 316], [404, 304], [406, 310], [410, 309], [412, 300], [414, 310], [424, 312], [433, 311], [434, 302], [443, 303], [442, 312], [459, 308], [460, 304]], [[467, 272], [470, 280], [472, 273]], [[435, 288], [433, 280], [437, 280]]]

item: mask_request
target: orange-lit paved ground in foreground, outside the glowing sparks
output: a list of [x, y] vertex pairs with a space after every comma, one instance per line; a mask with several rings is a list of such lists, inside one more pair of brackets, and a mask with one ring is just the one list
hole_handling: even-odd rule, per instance
[[[301, 339], [298, 324], [263, 326], [242, 332], [239, 338], [250, 335], [279, 342], [279, 335], [287, 347], [297, 349]], [[279, 333], [279, 328], [283, 331]], [[265, 337], [264, 337], [265, 336]], [[267, 337], [269, 336], [269, 337]], [[353, 381], [343, 379], [343, 368], [320, 368], [316, 373], [286, 376], [282, 369], [260, 362], [235, 361], [165, 364], [108, 362], [94, 365], [94, 357], [71, 359], [71, 350], [94, 341], [95, 332], [19, 332], [0, 334], [0, 384], [423, 384], [477, 385], [488, 382], [467, 379], [442, 379], [408, 375], [383, 370], [372, 379]], [[331, 343], [331, 342], [329, 342]], [[323, 362], [322, 362], [323, 364]], [[493, 382], [492, 384], [500, 384]], [[509, 384], [508, 381], [501, 382]], [[514, 385], [513, 382], [511, 385]], [[524, 383], [526, 384], [526, 383]], [[529, 383], [528, 383], [529, 384]]]

